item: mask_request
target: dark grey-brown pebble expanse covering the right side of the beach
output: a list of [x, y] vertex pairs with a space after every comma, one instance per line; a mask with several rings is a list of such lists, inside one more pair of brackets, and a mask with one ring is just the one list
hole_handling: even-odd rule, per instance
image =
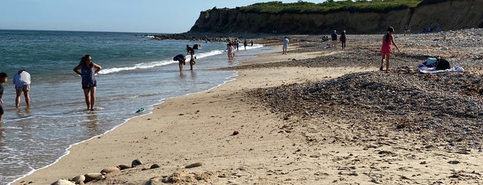
[[[349, 47], [334, 55], [231, 69], [375, 68], [333, 79], [258, 88], [249, 92], [247, 97], [254, 102], [263, 102], [279, 115], [295, 114], [307, 120], [317, 117], [348, 119], [355, 126], [352, 128], [354, 133], [366, 135], [359, 139], [371, 137], [370, 130], [392, 130], [417, 135], [417, 138], [398, 137], [401, 142], [416, 139], [430, 141], [435, 146], [447, 143], [448, 147], [455, 149], [478, 148], [483, 144], [483, 137], [479, 137], [483, 135], [480, 128], [483, 110], [480, 70], [483, 64], [475, 62], [474, 53], [482, 55], [483, 42], [471, 39], [477, 35], [483, 35], [482, 28], [406, 37], [395, 35], [401, 52], [392, 55], [390, 74], [379, 71], [381, 56], [377, 47], [380, 47], [380, 35], [351, 37], [352, 49]], [[428, 46], [433, 39], [439, 39], [438, 46]], [[451, 46], [451, 50], [441, 50], [447, 46]], [[306, 43], [297, 50], [310, 51], [315, 47], [319, 47], [315, 42]], [[443, 57], [452, 67], [460, 66], [464, 71], [423, 74], [416, 68], [428, 56]]]

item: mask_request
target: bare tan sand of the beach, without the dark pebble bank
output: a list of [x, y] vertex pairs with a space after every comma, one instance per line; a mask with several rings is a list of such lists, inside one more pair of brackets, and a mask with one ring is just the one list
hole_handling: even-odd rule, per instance
[[[392, 66], [414, 66], [430, 53], [427, 51], [436, 50], [437, 55], [464, 66], [465, 72], [480, 74], [483, 35], [481, 29], [477, 31], [480, 45], [451, 43], [453, 48], [466, 48], [457, 51], [437, 49], [450, 47], [446, 45], [427, 46], [430, 41], [413, 43], [420, 35], [399, 39], [403, 51], [395, 55]], [[468, 32], [474, 30], [446, 35], [461, 38]], [[73, 146], [59, 162], [13, 184], [50, 184], [100, 173], [106, 167], [131, 166], [134, 159], [144, 164], [86, 184], [483, 183], [482, 153], [475, 147], [448, 149], [431, 141], [408, 142], [404, 138], [418, 138], [418, 133], [383, 127], [368, 128], [359, 135], [347, 117], [276, 113], [267, 102], [250, 96], [249, 92], [259, 88], [379, 72], [379, 35], [349, 36], [348, 48], [335, 51], [323, 48], [317, 38], [292, 37], [288, 55], [276, 52], [241, 61], [241, 66], [230, 68], [238, 71], [234, 81], [167, 99], [152, 114], [135, 117], [101, 137]], [[366, 62], [354, 64], [358, 60]], [[399, 74], [394, 71], [390, 75]], [[185, 168], [196, 163], [202, 165]], [[149, 169], [153, 164], [160, 168]]]

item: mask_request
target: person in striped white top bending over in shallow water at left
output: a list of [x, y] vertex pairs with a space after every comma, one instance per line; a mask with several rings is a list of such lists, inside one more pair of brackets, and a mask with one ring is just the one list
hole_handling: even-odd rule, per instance
[[27, 106], [29, 106], [30, 96], [28, 95], [28, 92], [30, 91], [30, 74], [24, 69], [15, 72], [15, 75], [13, 75], [13, 84], [15, 84], [15, 91], [17, 93], [17, 97], [15, 98], [15, 107], [19, 108], [20, 95], [22, 92], [23, 97], [25, 97], [25, 102]]

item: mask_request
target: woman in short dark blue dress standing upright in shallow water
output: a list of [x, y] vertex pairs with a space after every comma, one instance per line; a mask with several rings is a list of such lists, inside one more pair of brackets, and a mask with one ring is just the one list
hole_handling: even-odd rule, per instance
[[[74, 68], [74, 72], [82, 77], [82, 89], [84, 90], [87, 110], [94, 110], [95, 88], [97, 86], [95, 74], [101, 69], [101, 66], [93, 63], [91, 55], [84, 55], [79, 65]], [[81, 71], [79, 72], [79, 70]]]

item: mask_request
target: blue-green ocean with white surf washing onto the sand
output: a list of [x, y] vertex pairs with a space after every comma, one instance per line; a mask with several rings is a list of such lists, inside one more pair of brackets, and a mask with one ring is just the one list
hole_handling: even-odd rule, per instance
[[[261, 44], [240, 49], [228, 61], [226, 43], [154, 40], [156, 33], [0, 30], [3, 119], [0, 123], [0, 185], [10, 184], [53, 164], [68, 148], [102, 135], [127, 120], [149, 114], [164, 99], [209, 90], [236, 76], [235, 71], [208, 70], [234, 66], [240, 59], [273, 52]], [[173, 56], [186, 45], [200, 44], [196, 65], [180, 72]], [[84, 55], [102, 66], [96, 75], [95, 110], [86, 110], [81, 77], [73, 72]], [[188, 56], [189, 58], [189, 56]], [[13, 76], [31, 75], [30, 106], [23, 95], [15, 108]], [[144, 108], [141, 113], [136, 113]]]

